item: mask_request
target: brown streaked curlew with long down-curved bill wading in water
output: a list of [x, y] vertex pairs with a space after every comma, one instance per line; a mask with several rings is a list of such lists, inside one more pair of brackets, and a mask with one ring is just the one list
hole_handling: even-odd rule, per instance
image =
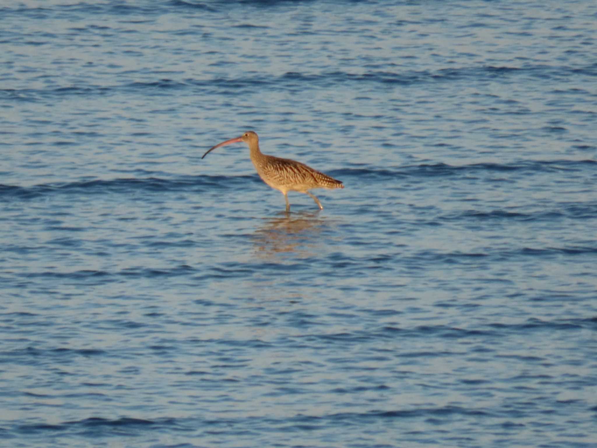
[[336, 180], [320, 171], [313, 170], [313, 168], [307, 167], [304, 163], [261, 153], [259, 150], [259, 137], [253, 131], [247, 131], [240, 137], [218, 143], [216, 146], [210, 148], [203, 157], [214, 149], [220, 148], [220, 146], [239, 142], [245, 142], [249, 145], [251, 162], [255, 165], [255, 169], [261, 180], [284, 195], [287, 213], [290, 211], [290, 202], [288, 202], [289, 191], [298, 191], [309, 195], [319, 205], [319, 209], [321, 210], [324, 208], [323, 205], [321, 205], [318, 198], [310, 194], [310, 189], [344, 188], [340, 180]]

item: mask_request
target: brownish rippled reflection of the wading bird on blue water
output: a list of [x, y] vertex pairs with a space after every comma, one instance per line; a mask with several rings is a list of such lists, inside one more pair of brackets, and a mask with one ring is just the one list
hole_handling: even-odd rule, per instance
[[[254, 243], [257, 254], [273, 258], [282, 253], [294, 253], [300, 257], [311, 257], [321, 244], [319, 234], [325, 228], [326, 220], [315, 213], [281, 212], [275, 218], [264, 220], [256, 230]], [[318, 243], [319, 241], [319, 243]]]

